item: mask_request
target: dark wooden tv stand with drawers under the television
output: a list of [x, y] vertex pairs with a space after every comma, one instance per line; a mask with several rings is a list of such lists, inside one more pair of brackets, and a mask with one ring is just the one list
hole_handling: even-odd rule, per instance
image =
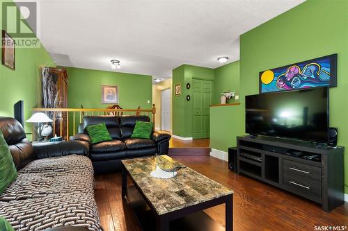
[[322, 205], [344, 203], [343, 147], [272, 137], [237, 137], [237, 173]]

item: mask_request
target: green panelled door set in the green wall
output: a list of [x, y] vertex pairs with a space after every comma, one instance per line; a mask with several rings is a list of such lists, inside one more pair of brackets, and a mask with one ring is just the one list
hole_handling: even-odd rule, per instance
[[209, 138], [210, 105], [212, 105], [212, 81], [193, 78], [192, 137]]

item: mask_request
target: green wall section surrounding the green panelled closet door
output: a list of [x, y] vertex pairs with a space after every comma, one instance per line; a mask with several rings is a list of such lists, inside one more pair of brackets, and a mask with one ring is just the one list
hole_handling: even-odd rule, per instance
[[[192, 137], [192, 100], [186, 100], [187, 95], [192, 95], [192, 87], [187, 89], [186, 85], [192, 85], [193, 78], [214, 80], [214, 69], [192, 65], [173, 69], [173, 135], [180, 137]], [[179, 83], [181, 94], [175, 96], [175, 85]]]

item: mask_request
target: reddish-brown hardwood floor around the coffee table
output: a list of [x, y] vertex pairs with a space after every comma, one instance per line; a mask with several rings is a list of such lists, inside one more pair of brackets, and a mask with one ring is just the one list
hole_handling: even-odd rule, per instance
[[[234, 230], [315, 230], [315, 225], [348, 226], [347, 203], [326, 213], [309, 200], [258, 180], [238, 176], [228, 171], [227, 162], [214, 157], [174, 158], [235, 191]], [[132, 212], [122, 205], [121, 173], [95, 176], [95, 181], [95, 200], [104, 230], [141, 230]], [[224, 205], [205, 212], [221, 225], [225, 224]]]

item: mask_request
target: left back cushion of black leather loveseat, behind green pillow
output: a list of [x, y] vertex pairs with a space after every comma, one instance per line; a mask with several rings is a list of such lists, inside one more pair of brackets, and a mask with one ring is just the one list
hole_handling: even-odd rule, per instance
[[98, 116], [98, 117], [84, 117], [84, 132], [86, 132], [86, 128], [90, 125], [97, 123], [105, 123], [109, 134], [112, 139], [120, 139], [120, 123], [118, 121], [118, 117], [115, 116]]

